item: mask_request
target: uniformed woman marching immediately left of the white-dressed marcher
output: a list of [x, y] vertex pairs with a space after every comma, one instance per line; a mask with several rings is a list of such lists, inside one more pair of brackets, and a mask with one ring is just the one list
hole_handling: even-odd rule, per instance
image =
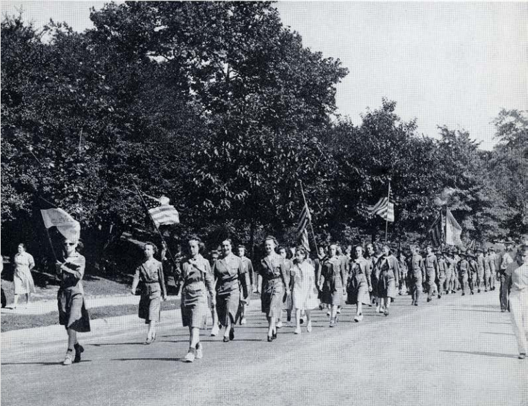
[[267, 318], [267, 341], [277, 338], [276, 319], [283, 308], [283, 297], [289, 293], [289, 279], [284, 260], [275, 253], [277, 240], [268, 235], [264, 240], [266, 256], [257, 272], [262, 277], [261, 310]]

